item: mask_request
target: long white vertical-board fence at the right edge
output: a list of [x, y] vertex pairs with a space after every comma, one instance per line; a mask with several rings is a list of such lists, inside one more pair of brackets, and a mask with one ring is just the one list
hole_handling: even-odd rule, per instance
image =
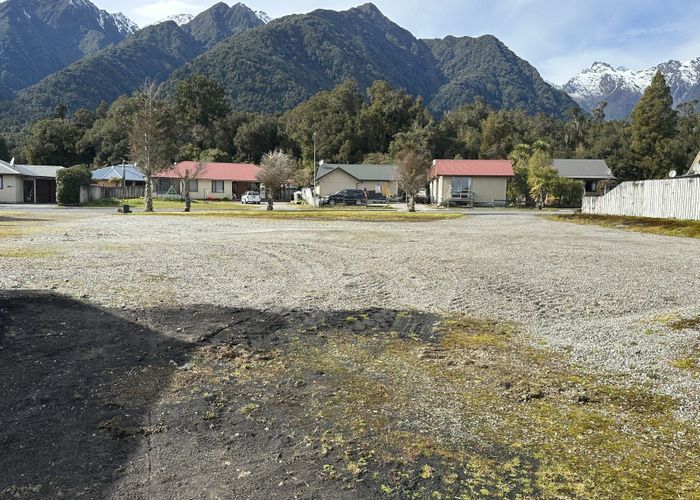
[[581, 212], [700, 220], [700, 177], [623, 182], [605, 196], [586, 196]]

